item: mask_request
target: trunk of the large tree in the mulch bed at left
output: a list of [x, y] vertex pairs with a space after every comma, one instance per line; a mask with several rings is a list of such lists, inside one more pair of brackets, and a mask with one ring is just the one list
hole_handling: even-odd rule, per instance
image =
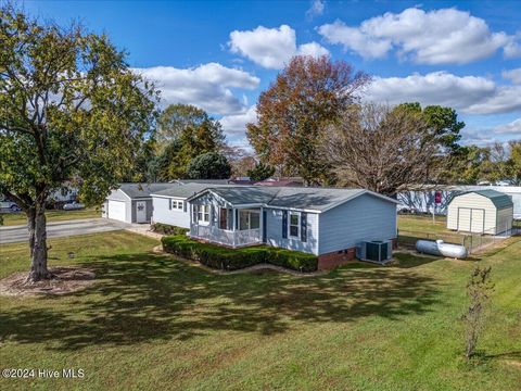
[[27, 211], [29, 228], [30, 272], [27, 281], [36, 282], [49, 279], [52, 274], [47, 269], [47, 219], [45, 204], [36, 204]]

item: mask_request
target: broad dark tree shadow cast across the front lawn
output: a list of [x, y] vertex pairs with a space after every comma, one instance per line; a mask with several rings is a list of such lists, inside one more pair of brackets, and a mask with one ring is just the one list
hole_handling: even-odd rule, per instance
[[318, 277], [214, 275], [152, 253], [84, 264], [96, 267], [94, 286], [2, 311], [2, 339], [67, 351], [219, 331], [275, 335], [295, 324], [398, 320], [430, 311], [439, 293], [429, 276], [358, 264]]

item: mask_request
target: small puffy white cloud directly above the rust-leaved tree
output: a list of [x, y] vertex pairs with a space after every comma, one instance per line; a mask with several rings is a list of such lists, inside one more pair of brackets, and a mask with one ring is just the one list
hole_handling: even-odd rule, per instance
[[241, 54], [266, 68], [280, 70], [295, 54], [323, 55], [329, 51], [317, 42], [296, 46], [295, 30], [258, 26], [253, 30], [230, 33], [231, 52]]

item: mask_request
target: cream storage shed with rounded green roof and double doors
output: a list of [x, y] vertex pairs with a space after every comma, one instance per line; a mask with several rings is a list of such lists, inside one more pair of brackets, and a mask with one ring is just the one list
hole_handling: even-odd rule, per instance
[[455, 195], [447, 207], [447, 228], [463, 232], [509, 232], [512, 219], [512, 199], [495, 190], [475, 190]]

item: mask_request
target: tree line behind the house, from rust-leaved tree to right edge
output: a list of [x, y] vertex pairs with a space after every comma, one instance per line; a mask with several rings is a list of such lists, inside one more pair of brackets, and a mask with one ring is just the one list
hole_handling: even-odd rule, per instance
[[452, 108], [363, 101], [371, 78], [344, 61], [295, 56], [260, 93], [247, 138], [277, 175], [394, 195], [422, 184], [519, 184], [521, 141], [461, 146]]

